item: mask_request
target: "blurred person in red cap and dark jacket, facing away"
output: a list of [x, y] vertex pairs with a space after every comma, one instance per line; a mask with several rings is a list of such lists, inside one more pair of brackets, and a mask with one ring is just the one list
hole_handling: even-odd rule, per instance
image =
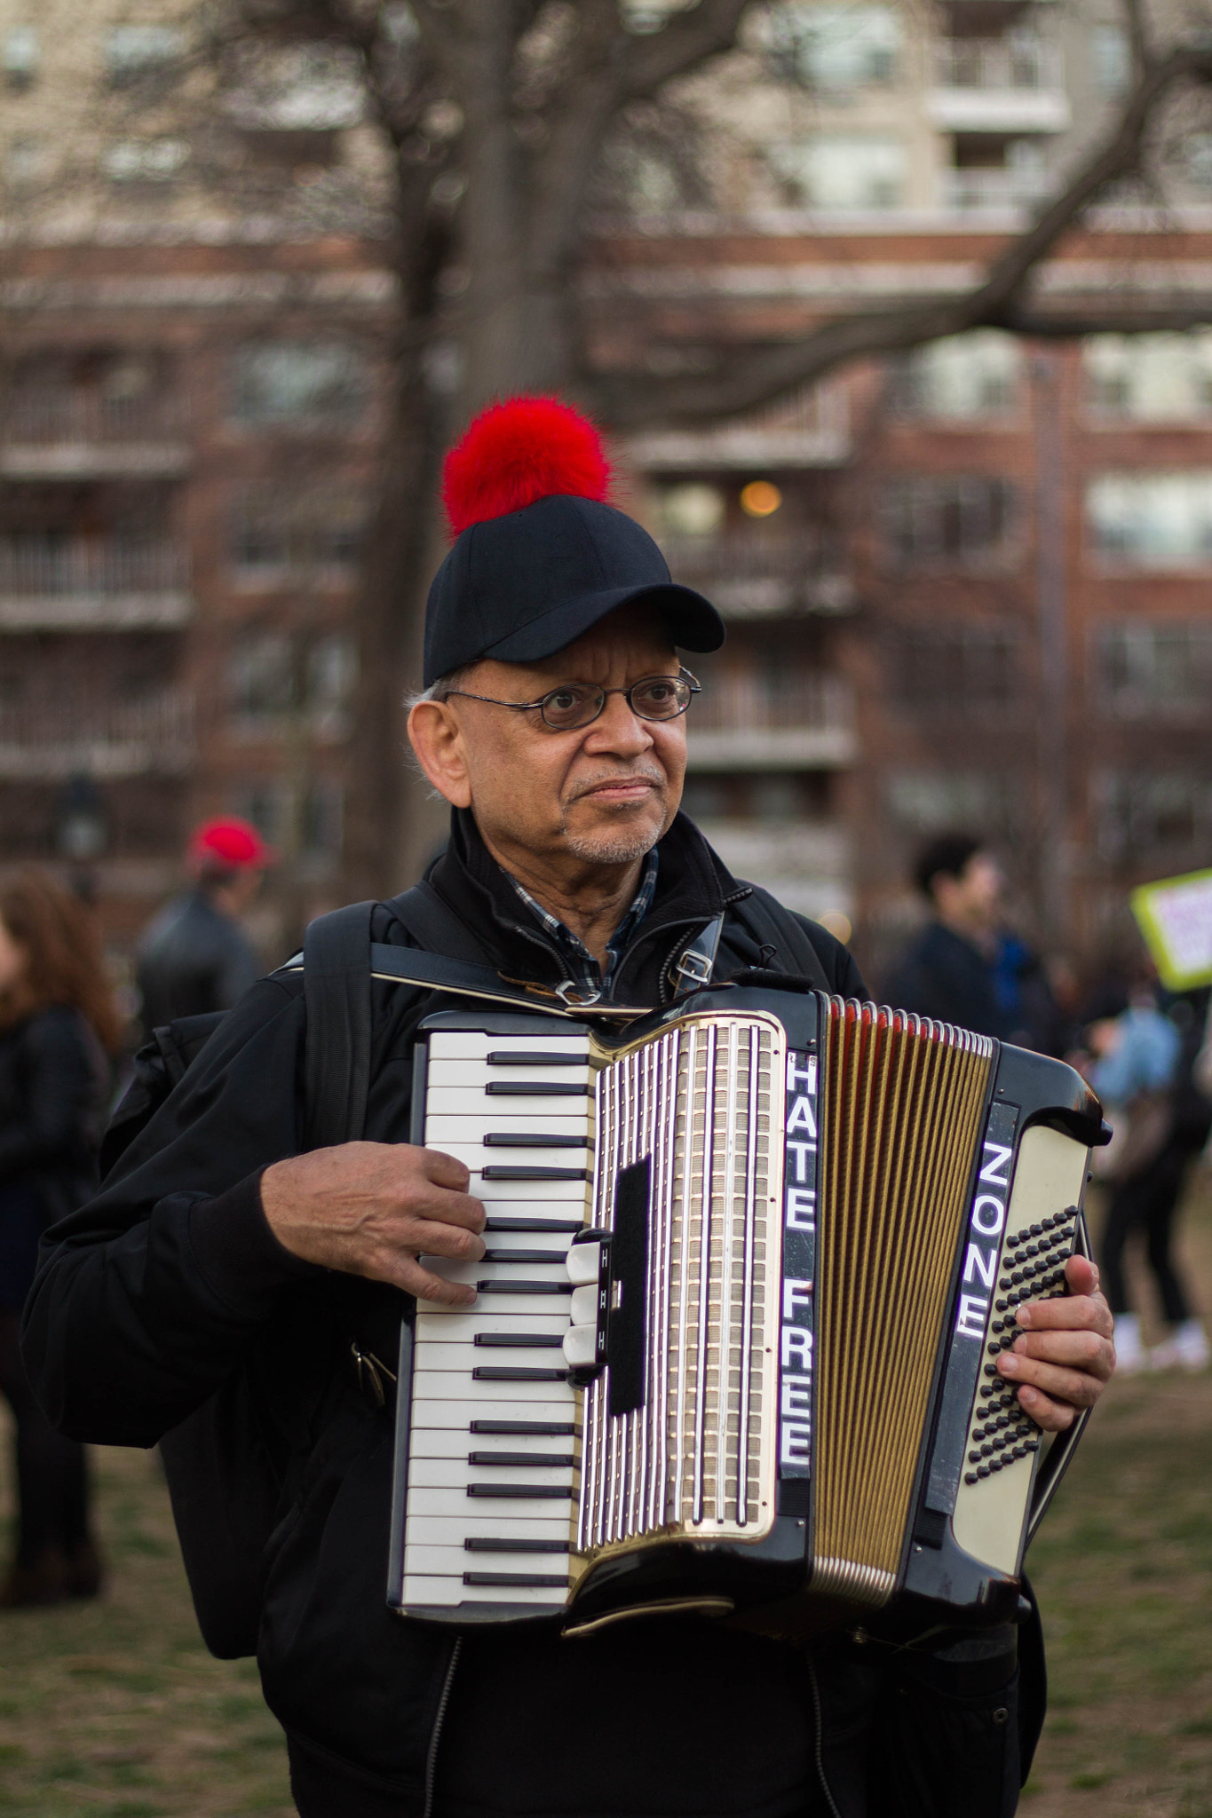
[[144, 1034], [178, 1016], [229, 1011], [263, 973], [240, 925], [273, 851], [247, 820], [207, 820], [189, 842], [193, 884], [149, 924], [138, 944]]

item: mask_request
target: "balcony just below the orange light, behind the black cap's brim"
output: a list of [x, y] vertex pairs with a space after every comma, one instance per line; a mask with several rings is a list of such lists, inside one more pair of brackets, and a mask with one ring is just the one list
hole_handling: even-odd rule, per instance
[[814, 536], [663, 536], [674, 580], [698, 587], [723, 618], [847, 613], [854, 584], [843, 560]]

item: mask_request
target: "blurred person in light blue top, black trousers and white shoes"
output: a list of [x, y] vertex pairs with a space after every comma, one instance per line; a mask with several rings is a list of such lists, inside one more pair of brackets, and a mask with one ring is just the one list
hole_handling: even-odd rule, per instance
[[[1116, 1314], [1119, 1369], [1190, 1369], [1208, 1364], [1208, 1340], [1194, 1314], [1174, 1264], [1174, 1218], [1192, 1158], [1208, 1133], [1192, 1084], [1194, 1044], [1165, 1014], [1152, 969], [1137, 965], [1128, 989], [1108, 985], [1092, 1005], [1085, 1054], [1078, 1062], [1103, 1100], [1114, 1129], [1107, 1149], [1094, 1151], [1094, 1174], [1110, 1189], [1103, 1225], [1101, 1265], [1107, 1298]], [[1188, 1020], [1194, 1020], [1188, 1011]], [[1123, 1253], [1132, 1231], [1145, 1233], [1145, 1254], [1157, 1282], [1161, 1311], [1170, 1327], [1165, 1342], [1147, 1351], [1141, 1320], [1128, 1309]]]

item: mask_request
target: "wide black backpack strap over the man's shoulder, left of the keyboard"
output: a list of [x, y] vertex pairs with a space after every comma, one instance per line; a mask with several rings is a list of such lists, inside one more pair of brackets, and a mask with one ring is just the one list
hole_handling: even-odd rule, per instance
[[347, 904], [303, 934], [307, 1145], [356, 1142], [371, 1089], [371, 916]]

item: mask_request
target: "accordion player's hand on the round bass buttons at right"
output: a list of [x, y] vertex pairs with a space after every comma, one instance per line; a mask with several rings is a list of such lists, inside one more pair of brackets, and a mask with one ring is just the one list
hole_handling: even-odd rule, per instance
[[1070, 1256], [1065, 1276], [1068, 1294], [1018, 1309], [1021, 1333], [998, 1358], [1007, 1382], [1021, 1383], [1018, 1398], [1045, 1433], [1063, 1433], [1078, 1409], [1094, 1407], [1116, 1367], [1114, 1322], [1098, 1291], [1098, 1269]]

